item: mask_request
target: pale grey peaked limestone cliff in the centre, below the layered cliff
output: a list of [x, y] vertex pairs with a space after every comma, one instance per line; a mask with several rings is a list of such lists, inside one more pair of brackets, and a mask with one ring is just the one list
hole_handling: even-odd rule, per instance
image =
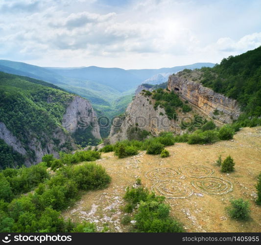
[[179, 130], [175, 125], [166, 117], [164, 108], [158, 106], [155, 110], [151, 99], [140, 93], [128, 105], [125, 115], [114, 120], [109, 139], [111, 144], [130, 139], [130, 129], [135, 126], [157, 136], [162, 131]]

